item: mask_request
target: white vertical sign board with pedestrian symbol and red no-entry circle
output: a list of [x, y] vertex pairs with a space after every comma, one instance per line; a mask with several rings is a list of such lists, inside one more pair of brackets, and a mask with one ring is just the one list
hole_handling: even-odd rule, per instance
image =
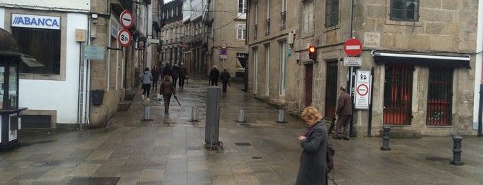
[[369, 109], [370, 91], [372, 90], [371, 82], [370, 70], [356, 70], [355, 109]]

